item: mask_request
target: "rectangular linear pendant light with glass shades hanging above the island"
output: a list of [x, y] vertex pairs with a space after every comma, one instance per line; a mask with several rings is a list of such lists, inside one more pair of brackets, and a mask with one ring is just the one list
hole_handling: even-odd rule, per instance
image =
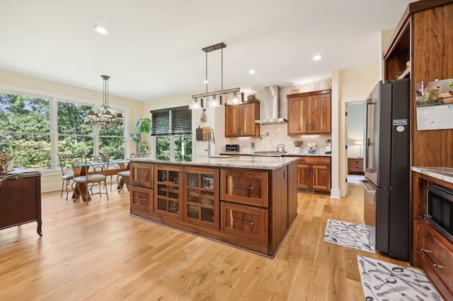
[[[210, 47], [205, 47], [203, 48], [203, 52], [206, 54], [206, 77], [205, 77], [205, 85], [206, 85], [206, 92], [205, 93], [200, 93], [200, 94], [195, 94], [192, 95], [192, 99], [190, 100], [189, 104], [193, 103], [196, 100], [199, 100], [202, 98], [205, 98], [206, 105], [207, 107], [220, 107], [222, 106], [222, 97], [226, 95], [228, 98], [229, 95], [233, 95], [234, 93], [239, 93], [241, 91], [240, 88], [232, 88], [232, 89], [227, 89], [224, 90], [224, 48], [226, 47], [225, 43], [219, 43], [217, 45], [212, 45]], [[222, 50], [222, 70], [221, 70], [221, 75], [222, 75], [222, 90], [219, 91], [214, 91], [214, 92], [207, 92], [207, 84], [209, 83], [209, 80], [207, 78], [207, 54], [209, 52], [213, 52], [215, 50], [221, 49]], [[202, 103], [202, 101], [201, 101]], [[200, 106], [204, 107], [204, 106]], [[191, 108], [195, 109], [195, 107], [191, 106]]]

